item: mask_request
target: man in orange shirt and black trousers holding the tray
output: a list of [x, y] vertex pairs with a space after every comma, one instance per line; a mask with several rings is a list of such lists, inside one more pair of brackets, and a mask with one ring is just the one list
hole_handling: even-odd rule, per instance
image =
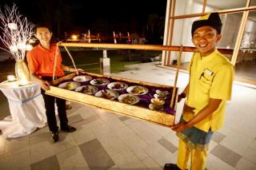
[[[65, 132], [74, 132], [76, 128], [68, 125], [68, 120], [66, 117], [66, 101], [61, 98], [46, 95], [46, 90], [50, 89], [50, 81], [53, 80], [55, 53], [57, 53], [55, 77], [63, 77], [64, 71], [75, 72], [76, 70], [74, 68], [70, 68], [69, 66], [62, 65], [62, 56], [59, 49], [56, 49], [58, 48], [57, 45], [52, 45], [50, 43], [52, 33], [48, 27], [38, 26], [36, 28], [35, 37], [38, 38], [39, 44], [27, 53], [26, 58], [31, 76], [41, 84], [42, 97], [45, 101], [46, 107], [48, 127], [52, 132], [51, 140], [53, 142], [57, 142], [59, 140], [59, 136], [58, 125], [54, 112], [55, 101], [58, 106], [58, 117], [60, 120], [61, 130]], [[78, 69], [78, 71], [83, 70]]]

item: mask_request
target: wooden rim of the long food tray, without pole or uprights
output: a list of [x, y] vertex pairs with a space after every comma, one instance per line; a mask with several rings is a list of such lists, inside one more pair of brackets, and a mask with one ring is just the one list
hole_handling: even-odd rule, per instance
[[[128, 81], [130, 83], [135, 83], [138, 85], [152, 86], [154, 88], [164, 88], [164, 89], [170, 89], [170, 90], [173, 89], [173, 87], [167, 86], [167, 85], [158, 85], [158, 84], [153, 84], [148, 82], [134, 81], [134, 80], [121, 78], [121, 77], [103, 76], [95, 73], [86, 73], [86, 74], [93, 77], [111, 78], [112, 80], [115, 80], [115, 81]], [[50, 86], [50, 90], [46, 91], [46, 94], [49, 94], [54, 97], [63, 98], [69, 101], [78, 102], [85, 105], [93, 105], [98, 108], [107, 109], [107, 110], [113, 111], [114, 113], [126, 115], [129, 117], [136, 117], [142, 120], [152, 121], [154, 123], [164, 125], [164, 126], [174, 125], [175, 113], [169, 114], [169, 113], [159, 112], [159, 111], [151, 110], [149, 108], [140, 107], [138, 105], [128, 105], [119, 101], [110, 101], [105, 98], [95, 97], [85, 93], [78, 93], [75, 91], [70, 91], [68, 89], [61, 89], [54, 86], [54, 85], [58, 85], [58, 83], [61, 81], [72, 79], [75, 76], [76, 76], [75, 73], [72, 73], [58, 80], [55, 80], [53, 82], [53, 85]], [[176, 89], [176, 94], [178, 94], [178, 89]], [[178, 101], [178, 97], [177, 95], [175, 95], [174, 111], [177, 108], [177, 101]]]

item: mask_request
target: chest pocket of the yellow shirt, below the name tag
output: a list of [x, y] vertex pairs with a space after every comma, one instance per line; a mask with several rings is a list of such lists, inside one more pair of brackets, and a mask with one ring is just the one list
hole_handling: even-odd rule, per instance
[[213, 75], [202, 73], [202, 75], [199, 78], [199, 87], [202, 93], [206, 93], [206, 94], [210, 93], [210, 86], [212, 81], [213, 81]]

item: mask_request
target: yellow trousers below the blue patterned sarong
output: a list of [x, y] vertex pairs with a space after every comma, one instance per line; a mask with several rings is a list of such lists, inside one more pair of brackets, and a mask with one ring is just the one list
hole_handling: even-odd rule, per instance
[[[191, 157], [190, 157], [191, 156]], [[178, 168], [185, 170], [188, 161], [191, 161], [190, 170], [205, 170], [206, 168], [206, 151], [190, 150], [186, 147], [186, 143], [182, 140], [178, 142]]]

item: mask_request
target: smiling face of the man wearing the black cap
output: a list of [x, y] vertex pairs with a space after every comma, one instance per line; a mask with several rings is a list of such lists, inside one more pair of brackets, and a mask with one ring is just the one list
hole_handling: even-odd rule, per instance
[[214, 52], [217, 42], [222, 38], [211, 26], [202, 26], [194, 31], [192, 42], [202, 57]]

